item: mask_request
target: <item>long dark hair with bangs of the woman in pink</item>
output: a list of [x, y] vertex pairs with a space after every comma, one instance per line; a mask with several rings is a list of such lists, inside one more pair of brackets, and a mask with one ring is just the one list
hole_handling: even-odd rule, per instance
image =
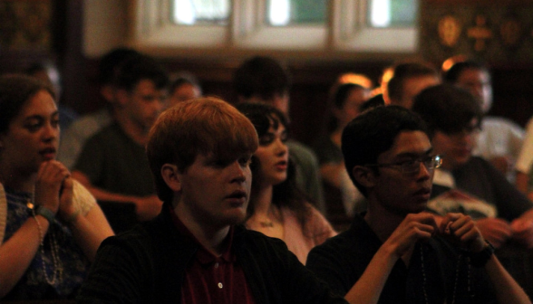
[[[243, 102], [237, 104], [237, 109], [250, 119], [256, 128], [257, 136], [259, 138], [264, 136], [270, 127], [277, 129], [279, 128], [279, 125], [283, 125], [288, 132], [289, 126], [286, 116], [279, 109], [276, 109], [271, 105]], [[254, 177], [252, 180], [252, 194], [247, 208], [248, 217], [255, 213], [256, 190], [261, 178], [261, 176], [258, 175], [260, 166], [261, 164], [257, 157], [252, 157], [251, 168], [252, 176]], [[305, 223], [307, 223], [309, 216], [311, 216], [311, 207], [307, 202], [309, 202], [308, 198], [305, 197], [304, 193], [300, 191], [296, 185], [296, 166], [289, 158], [286, 180], [273, 187], [272, 204], [277, 207], [286, 206], [294, 212], [298, 223], [302, 226], [304, 235], [311, 237], [311, 235], [308, 235], [308, 229], [305, 228]]]

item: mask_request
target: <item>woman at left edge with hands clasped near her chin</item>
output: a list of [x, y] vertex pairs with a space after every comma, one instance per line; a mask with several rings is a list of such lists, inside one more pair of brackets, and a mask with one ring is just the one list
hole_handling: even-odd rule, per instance
[[102, 210], [55, 160], [53, 89], [0, 77], [0, 299], [73, 299], [98, 246], [112, 235]]

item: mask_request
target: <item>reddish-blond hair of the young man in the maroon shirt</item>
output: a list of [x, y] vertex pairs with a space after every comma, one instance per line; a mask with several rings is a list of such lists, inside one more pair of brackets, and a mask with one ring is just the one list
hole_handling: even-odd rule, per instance
[[165, 164], [185, 172], [199, 155], [231, 160], [257, 150], [254, 125], [224, 100], [207, 97], [181, 102], [164, 111], [150, 129], [146, 154], [156, 191], [164, 202], [172, 191], [160, 170]]

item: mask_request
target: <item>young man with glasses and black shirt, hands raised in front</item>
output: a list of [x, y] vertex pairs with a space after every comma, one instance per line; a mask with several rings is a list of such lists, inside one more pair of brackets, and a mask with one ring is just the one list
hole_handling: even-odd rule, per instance
[[469, 216], [438, 225], [424, 212], [441, 157], [420, 117], [370, 110], [344, 128], [342, 146], [368, 208], [306, 263], [334, 292], [361, 303], [529, 303]]

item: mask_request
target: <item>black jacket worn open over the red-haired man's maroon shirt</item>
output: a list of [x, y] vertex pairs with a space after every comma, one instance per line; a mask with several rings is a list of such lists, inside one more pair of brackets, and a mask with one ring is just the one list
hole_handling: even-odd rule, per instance
[[[103, 241], [78, 303], [181, 303], [181, 286], [199, 245], [179, 233], [170, 216], [163, 205], [154, 220]], [[231, 248], [257, 304], [346, 303], [281, 240], [237, 225]]]

